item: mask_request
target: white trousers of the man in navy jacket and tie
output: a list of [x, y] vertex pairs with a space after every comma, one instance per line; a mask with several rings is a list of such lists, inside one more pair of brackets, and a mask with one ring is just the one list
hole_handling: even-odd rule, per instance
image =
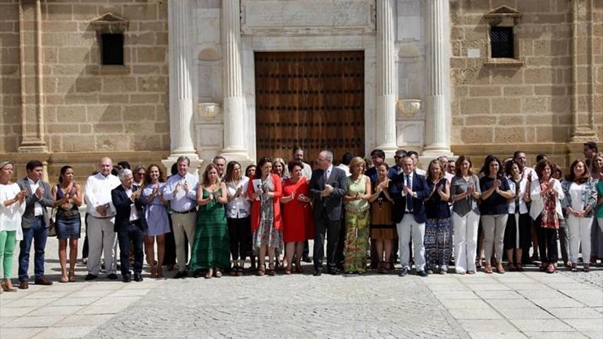
[[398, 231], [400, 264], [402, 264], [402, 268], [410, 268], [410, 248], [408, 248], [408, 243], [412, 237], [415, 269], [417, 272], [423, 271], [425, 268], [425, 245], [423, 245], [425, 223], [417, 223], [413, 214], [406, 213], [402, 221], [396, 224], [396, 228]]

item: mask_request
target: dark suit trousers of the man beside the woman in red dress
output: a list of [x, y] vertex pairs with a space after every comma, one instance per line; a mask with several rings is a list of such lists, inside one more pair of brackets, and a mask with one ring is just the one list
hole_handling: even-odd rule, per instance
[[[314, 234], [314, 268], [322, 269], [325, 236], [327, 238], [327, 266], [330, 270], [337, 267], [337, 249], [339, 247], [339, 237], [341, 229], [341, 220], [330, 220], [325, 211], [315, 219]], [[343, 251], [342, 251], [343, 256]]]

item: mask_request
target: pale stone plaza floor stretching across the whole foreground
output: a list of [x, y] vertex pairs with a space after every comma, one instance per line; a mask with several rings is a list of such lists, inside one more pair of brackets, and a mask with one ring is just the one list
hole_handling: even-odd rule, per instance
[[313, 277], [308, 264], [291, 276], [124, 284], [84, 281], [78, 264], [78, 281], [61, 284], [57, 246], [49, 239], [52, 286], [0, 294], [0, 338], [603, 338], [602, 268]]

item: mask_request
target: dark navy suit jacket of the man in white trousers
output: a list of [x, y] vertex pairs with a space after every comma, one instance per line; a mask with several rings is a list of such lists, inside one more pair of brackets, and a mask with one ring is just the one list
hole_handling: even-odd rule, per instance
[[[411, 213], [417, 223], [425, 223], [427, 216], [423, 199], [429, 197], [430, 193], [425, 177], [416, 172], [413, 173], [413, 187], [410, 189], [417, 193], [417, 197], [413, 197], [413, 212]], [[396, 175], [389, 184], [389, 194], [393, 199], [391, 220], [394, 223], [402, 221], [406, 213], [406, 196], [402, 197], [402, 192], [404, 192], [404, 172]]]

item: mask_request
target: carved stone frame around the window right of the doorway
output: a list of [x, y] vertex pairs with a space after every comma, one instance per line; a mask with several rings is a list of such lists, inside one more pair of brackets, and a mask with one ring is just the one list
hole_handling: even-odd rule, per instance
[[[485, 62], [488, 66], [523, 66], [524, 58], [521, 55], [521, 40], [517, 38], [517, 25], [521, 18], [521, 13], [506, 5], [495, 8], [491, 12], [484, 14], [484, 18], [489, 24], [488, 27], [488, 60]], [[514, 58], [492, 58], [492, 42], [490, 40], [490, 31], [492, 27], [511, 27], [513, 29], [513, 55]]]

